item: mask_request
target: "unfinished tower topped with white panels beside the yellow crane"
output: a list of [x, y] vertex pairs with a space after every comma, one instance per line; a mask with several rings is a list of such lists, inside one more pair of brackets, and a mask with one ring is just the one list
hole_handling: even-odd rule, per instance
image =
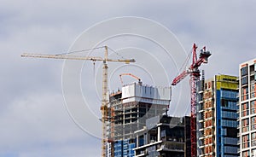
[[171, 87], [127, 84], [109, 96], [107, 156], [134, 156], [135, 131], [143, 129], [146, 119], [162, 116], [171, 102]]

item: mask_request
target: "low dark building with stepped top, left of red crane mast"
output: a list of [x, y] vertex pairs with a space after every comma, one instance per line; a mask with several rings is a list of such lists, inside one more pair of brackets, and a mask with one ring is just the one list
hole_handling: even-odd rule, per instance
[[146, 126], [135, 133], [137, 135], [135, 157], [191, 156], [190, 117], [156, 116], [147, 119]]

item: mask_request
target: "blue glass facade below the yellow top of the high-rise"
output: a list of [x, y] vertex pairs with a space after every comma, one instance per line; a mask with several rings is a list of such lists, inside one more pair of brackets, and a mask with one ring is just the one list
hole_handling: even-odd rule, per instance
[[[235, 80], [233, 80], [236, 82]], [[238, 85], [238, 83], [236, 83]], [[217, 108], [218, 123], [218, 152], [216, 156], [237, 156], [237, 90], [221, 88], [220, 96], [216, 100], [220, 100], [220, 108]], [[218, 96], [218, 95], [217, 95]], [[219, 109], [219, 111], [218, 111]]]

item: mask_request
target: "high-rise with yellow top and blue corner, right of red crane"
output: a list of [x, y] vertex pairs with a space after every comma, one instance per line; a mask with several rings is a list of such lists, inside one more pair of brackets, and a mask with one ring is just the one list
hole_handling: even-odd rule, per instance
[[197, 86], [198, 156], [237, 156], [238, 78], [216, 75]]

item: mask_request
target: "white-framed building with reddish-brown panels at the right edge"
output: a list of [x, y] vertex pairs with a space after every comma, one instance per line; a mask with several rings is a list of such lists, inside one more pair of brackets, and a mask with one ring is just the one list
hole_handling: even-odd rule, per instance
[[239, 66], [239, 138], [242, 157], [256, 156], [256, 59]]

